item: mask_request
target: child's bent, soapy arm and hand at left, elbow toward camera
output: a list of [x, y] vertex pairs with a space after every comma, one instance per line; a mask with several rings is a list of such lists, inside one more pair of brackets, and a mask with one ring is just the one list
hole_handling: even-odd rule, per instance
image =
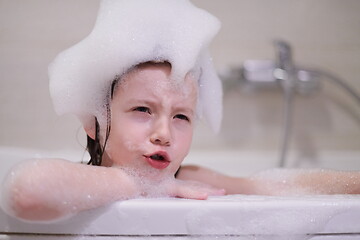
[[[157, 189], [159, 186], [157, 186]], [[206, 199], [217, 190], [189, 181], [170, 179], [163, 193]], [[139, 181], [115, 167], [90, 166], [61, 159], [27, 160], [5, 179], [1, 205], [8, 214], [35, 221], [71, 216], [105, 204], [151, 194]]]

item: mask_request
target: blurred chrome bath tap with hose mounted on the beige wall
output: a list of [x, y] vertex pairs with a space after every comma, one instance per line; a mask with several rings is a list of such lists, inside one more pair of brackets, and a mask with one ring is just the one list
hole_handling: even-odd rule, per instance
[[[290, 143], [292, 110], [295, 94], [309, 95], [320, 89], [321, 80], [329, 80], [345, 90], [360, 106], [360, 95], [344, 80], [318, 69], [299, 68], [294, 65], [291, 46], [283, 40], [274, 41], [277, 58], [246, 60], [240, 68], [220, 74], [230, 85], [241, 83], [247, 88], [280, 87], [284, 95], [283, 130], [280, 143], [279, 167], [285, 167]], [[226, 89], [226, 85], [225, 85]]]

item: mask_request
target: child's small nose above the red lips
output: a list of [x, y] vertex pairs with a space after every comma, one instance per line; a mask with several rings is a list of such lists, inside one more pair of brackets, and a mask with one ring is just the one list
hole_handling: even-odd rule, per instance
[[154, 124], [154, 129], [150, 136], [150, 141], [156, 145], [170, 146], [171, 131], [168, 121], [159, 119]]

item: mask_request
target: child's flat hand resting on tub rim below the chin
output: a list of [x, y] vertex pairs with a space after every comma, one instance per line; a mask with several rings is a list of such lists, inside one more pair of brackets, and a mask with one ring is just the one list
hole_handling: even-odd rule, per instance
[[170, 196], [197, 200], [205, 200], [208, 196], [225, 195], [224, 189], [189, 180], [173, 179], [167, 183], [165, 188]]

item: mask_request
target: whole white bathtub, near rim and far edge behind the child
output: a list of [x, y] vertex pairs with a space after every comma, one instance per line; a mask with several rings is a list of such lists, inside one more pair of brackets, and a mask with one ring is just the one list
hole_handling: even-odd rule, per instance
[[[219, 166], [227, 168], [230, 164], [233, 169], [239, 164], [238, 161], [233, 162], [236, 157], [234, 154], [238, 156], [240, 153], [195, 152], [187, 161], [200, 161], [203, 165], [211, 166], [215, 159], [220, 156], [224, 159], [226, 156], [227, 160]], [[246, 155], [249, 160], [251, 154]], [[24, 157], [32, 156], [60, 156], [76, 160], [82, 158], [82, 153], [62, 151], [61, 154], [39, 154], [36, 151], [0, 148], [0, 180], [12, 165]], [[352, 158], [348, 156], [347, 159], [350, 161]], [[252, 166], [253, 169], [247, 168], [248, 172], [263, 168], [261, 164]], [[238, 172], [230, 172], [234, 173]], [[354, 240], [360, 239], [360, 196], [233, 195], [212, 197], [206, 201], [134, 199], [86, 211], [51, 224], [22, 222], [0, 211], [0, 239], [93, 238]]]

